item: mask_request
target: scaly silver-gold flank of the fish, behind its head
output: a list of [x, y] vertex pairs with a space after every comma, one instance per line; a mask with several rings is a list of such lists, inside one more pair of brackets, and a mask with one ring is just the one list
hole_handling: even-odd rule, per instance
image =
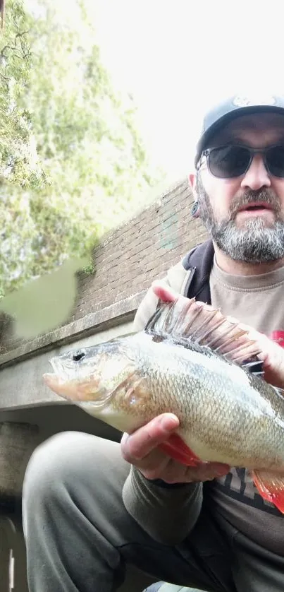
[[[199, 447], [208, 449], [206, 461], [226, 458], [239, 466], [245, 459], [247, 467], [255, 468], [266, 466], [268, 459], [276, 466], [284, 463], [284, 422], [279, 414], [281, 409], [284, 418], [284, 401], [273, 387], [221, 356], [203, 355], [204, 348], [195, 351], [193, 344], [190, 350], [145, 337], [136, 343], [131, 339], [129, 349], [126, 340], [121, 342], [135, 366], [135, 381], [142, 382], [129, 398], [125, 391], [118, 393], [111, 401], [114, 409], [139, 418], [139, 425], [160, 413], [175, 413], [183, 439], [190, 447], [195, 442], [197, 456]], [[195, 434], [202, 442], [199, 446]]]

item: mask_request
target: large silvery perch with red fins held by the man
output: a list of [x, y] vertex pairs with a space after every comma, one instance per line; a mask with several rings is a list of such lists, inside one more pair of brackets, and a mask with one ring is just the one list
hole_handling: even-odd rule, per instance
[[164, 451], [189, 466], [247, 468], [284, 514], [284, 398], [264, 381], [259, 353], [220, 310], [160, 301], [144, 331], [54, 357], [44, 381], [123, 432], [174, 413], [180, 425]]

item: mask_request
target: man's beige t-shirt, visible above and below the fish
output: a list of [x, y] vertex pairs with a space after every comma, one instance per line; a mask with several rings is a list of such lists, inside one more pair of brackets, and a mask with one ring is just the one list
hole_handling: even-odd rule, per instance
[[[223, 314], [235, 316], [257, 331], [271, 336], [284, 331], [284, 267], [259, 276], [231, 276], [214, 260], [210, 276], [211, 303]], [[264, 502], [245, 469], [233, 469], [208, 485], [216, 510], [257, 543], [284, 554], [284, 518], [273, 504]], [[259, 521], [263, 510], [263, 521]]]

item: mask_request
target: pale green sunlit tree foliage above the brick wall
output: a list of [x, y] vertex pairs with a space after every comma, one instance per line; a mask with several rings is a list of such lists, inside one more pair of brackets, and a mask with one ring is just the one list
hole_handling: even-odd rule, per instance
[[[6, 1], [0, 37], [0, 291], [80, 257], [160, 179], [113, 89], [84, 1]], [[74, 14], [74, 11], [73, 11]]]

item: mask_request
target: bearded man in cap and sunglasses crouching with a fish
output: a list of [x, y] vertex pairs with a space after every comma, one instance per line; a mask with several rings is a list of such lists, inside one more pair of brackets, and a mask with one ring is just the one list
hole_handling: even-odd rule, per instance
[[[267, 338], [284, 328], [284, 97], [212, 109], [195, 165], [212, 240], [149, 290], [135, 328], [161, 292], [195, 295], [264, 333], [265, 377], [284, 387], [284, 350]], [[73, 432], [35, 451], [23, 489], [30, 592], [111, 592], [125, 562], [209, 592], [283, 591], [282, 514], [245, 469], [190, 468], [158, 450], [176, 427], [165, 414], [121, 446]]]

